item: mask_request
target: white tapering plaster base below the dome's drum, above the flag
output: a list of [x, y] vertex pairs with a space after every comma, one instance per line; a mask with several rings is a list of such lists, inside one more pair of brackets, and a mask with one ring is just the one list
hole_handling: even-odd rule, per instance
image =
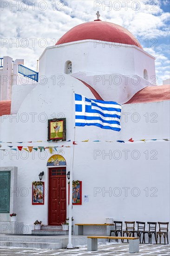
[[116, 101], [123, 104], [129, 101], [134, 94], [146, 86], [152, 86], [149, 81], [135, 74], [90, 74], [78, 72], [72, 74], [91, 85], [104, 101]]

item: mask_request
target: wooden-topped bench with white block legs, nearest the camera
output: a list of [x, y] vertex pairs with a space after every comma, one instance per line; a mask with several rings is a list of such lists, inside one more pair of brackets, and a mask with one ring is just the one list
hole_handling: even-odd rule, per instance
[[98, 239], [126, 239], [129, 240], [129, 252], [139, 252], [139, 238], [138, 237], [125, 237], [125, 236], [87, 236], [87, 250], [98, 250]]

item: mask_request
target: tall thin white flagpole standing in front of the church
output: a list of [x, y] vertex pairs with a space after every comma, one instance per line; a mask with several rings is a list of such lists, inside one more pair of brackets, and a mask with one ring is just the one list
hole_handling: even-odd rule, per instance
[[73, 112], [73, 132], [72, 132], [72, 157], [71, 157], [71, 165], [70, 165], [70, 195], [69, 195], [69, 233], [68, 233], [68, 244], [67, 249], [73, 249], [72, 246], [72, 173], [73, 173], [73, 162], [74, 162], [74, 144], [75, 141], [75, 102], [74, 102], [74, 90], [72, 89], [72, 112]]

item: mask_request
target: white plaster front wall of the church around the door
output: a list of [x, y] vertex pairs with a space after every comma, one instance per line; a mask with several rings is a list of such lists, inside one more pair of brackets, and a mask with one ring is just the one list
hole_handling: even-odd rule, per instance
[[[34, 206], [31, 191], [32, 182], [39, 179], [39, 172], [44, 171], [43, 181], [47, 192], [46, 162], [51, 154], [48, 150], [42, 153], [28, 153], [24, 150], [15, 152], [7, 145], [72, 146], [71, 142], [66, 141], [46, 141], [47, 119], [65, 117], [66, 140], [72, 140], [72, 89], [75, 93], [94, 98], [91, 91], [77, 79], [55, 74], [56, 77], [59, 75], [63, 76], [63, 81], [59, 84], [53, 85], [52, 79], [48, 78], [46, 84], [38, 84], [26, 96], [18, 111], [18, 119], [12, 116], [1, 117], [2, 141], [44, 141], [32, 144], [2, 143], [2, 147], [7, 150], [0, 151], [2, 166], [18, 167], [18, 221], [27, 224], [26, 230], [29, 232], [36, 219], [47, 224], [48, 195], [45, 197], [45, 205]], [[89, 195], [89, 202], [85, 203], [82, 198], [82, 205], [73, 206], [74, 223], [105, 223], [107, 217], [122, 221], [170, 221], [170, 142], [162, 140], [169, 138], [168, 109], [169, 101], [123, 105], [120, 133], [97, 127], [76, 128], [75, 140], [78, 145], [75, 145], [73, 179], [82, 181], [82, 196]], [[131, 137], [134, 140], [160, 140], [104, 142], [129, 140]], [[103, 142], [80, 142], [86, 139]], [[58, 149], [58, 154], [65, 157], [67, 171], [70, 170], [71, 150], [72, 148], [65, 147]], [[98, 155], [96, 159], [95, 155]], [[100, 192], [96, 196], [94, 188], [98, 188]], [[127, 189], [127, 196], [123, 188]], [[111, 191], [110, 194], [105, 193], [106, 190]], [[121, 195], [116, 196], [120, 191]], [[135, 196], [138, 192], [140, 194]]]

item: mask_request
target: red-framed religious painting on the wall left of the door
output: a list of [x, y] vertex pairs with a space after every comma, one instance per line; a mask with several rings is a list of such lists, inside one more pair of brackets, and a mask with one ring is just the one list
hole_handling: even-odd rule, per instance
[[44, 182], [33, 182], [32, 204], [44, 204]]

